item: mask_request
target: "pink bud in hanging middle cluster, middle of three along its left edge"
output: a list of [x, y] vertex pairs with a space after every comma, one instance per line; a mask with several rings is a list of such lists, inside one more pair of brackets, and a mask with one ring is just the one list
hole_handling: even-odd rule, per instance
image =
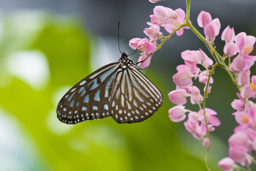
[[189, 94], [187, 94], [187, 91], [185, 89], [178, 89], [169, 92], [168, 96], [172, 103], [182, 105], [187, 103], [186, 97], [188, 97]]

